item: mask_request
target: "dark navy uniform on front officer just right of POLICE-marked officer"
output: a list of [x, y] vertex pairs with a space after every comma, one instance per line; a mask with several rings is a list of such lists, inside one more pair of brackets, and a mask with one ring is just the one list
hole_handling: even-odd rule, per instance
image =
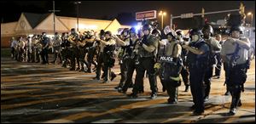
[[192, 42], [191, 47], [195, 47], [204, 51], [204, 54], [193, 54], [189, 51], [189, 82], [190, 89], [195, 104], [195, 113], [202, 113], [204, 111], [204, 87], [203, 79], [206, 74], [209, 61], [209, 46], [202, 39], [197, 42]]

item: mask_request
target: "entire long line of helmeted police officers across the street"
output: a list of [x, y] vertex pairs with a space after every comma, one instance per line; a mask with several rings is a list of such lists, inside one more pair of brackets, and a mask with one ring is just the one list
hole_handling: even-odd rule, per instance
[[[177, 87], [181, 85], [181, 75], [186, 92], [190, 85], [194, 102], [191, 108], [195, 109], [195, 115], [201, 115], [204, 112], [204, 102], [209, 99], [212, 70], [213, 65], [216, 64], [215, 56], [221, 51], [225, 83], [232, 96], [230, 114], [236, 114], [236, 107], [241, 105], [243, 83], [247, 78], [249, 65], [247, 53], [250, 48], [247, 38], [241, 37], [242, 31], [239, 26], [231, 27], [230, 37], [223, 46], [212, 37], [211, 25], [205, 25], [202, 30], [191, 29], [189, 37], [185, 37], [181, 30], [173, 31], [166, 27], [164, 31], [159, 31], [156, 28], [152, 29], [149, 24], [143, 25], [139, 33], [137, 35], [136, 30], [131, 28], [123, 31], [120, 37], [110, 31], [101, 31], [99, 36], [96, 36], [93, 31], [79, 34], [72, 29], [70, 35], [62, 33], [59, 37], [58, 33], [55, 33], [51, 43], [43, 32], [42, 36], [28, 37], [26, 43], [22, 37], [18, 42], [12, 39], [12, 53], [13, 58], [22, 61], [27, 49], [29, 58], [27, 61], [39, 62], [39, 54], [41, 54], [42, 64], [47, 64], [49, 48], [52, 46], [55, 54], [52, 63], [55, 63], [59, 57], [63, 67], [69, 64], [70, 70], [84, 72], [91, 72], [91, 64], [93, 64], [96, 67], [94, 79], [100, 80], [103, 70], [102, 78], [104, 83], [107, 83], [116, 77], [111, 68], [115, 63], [116, 49], [119, 49], [121, 79], [119, 85], [115, 87], [119, 93], [126, 94], [127, 89], [133, 87], [132, 93], [127, 96], [137, 98], [138, 93], [143, 93], [143, 78], [147, 72], [151, 89], [150, 98], [157, 97], [156, 76], [159, 76], [163, 91], [169, 95], [168, 104], [177, 104]], [[137, 74], [133, 82], [134, 70]]]

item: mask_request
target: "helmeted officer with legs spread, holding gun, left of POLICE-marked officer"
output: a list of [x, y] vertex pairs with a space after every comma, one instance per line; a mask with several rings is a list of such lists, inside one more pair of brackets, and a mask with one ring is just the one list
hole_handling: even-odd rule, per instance
[[156, 86], [156, 77], [155, 77], [155, 57], [156, 50], [158, 48], [158, 40], [156, 37], [150, 34], [150, 25], [143, 25], [143, 39], [140, 42], [140, 47], [138, 48], [139, 64], [137, 65], [137, 75], [135, 79], [135, 85], [132, 89], [132, 93], [128, 95], [131, 98], [137, 98], [137, 93], [140, 87], [140, 84], [143, 83], [143, 76], [145, 74], [145, 70], [148, 72], [148, 79], [150, 83], [151, 89], [151, 99], [155, 99], [157, 97], [157, 86]]

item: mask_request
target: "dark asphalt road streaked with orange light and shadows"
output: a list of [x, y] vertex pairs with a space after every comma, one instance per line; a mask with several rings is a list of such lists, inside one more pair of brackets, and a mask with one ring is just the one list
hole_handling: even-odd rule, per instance
[[[119, 66], [114, 67], [119, 74]], [[149, 99], [148, 78], [145, 93], [129, 99], [110, 83], [92, 80], [95, 73], [62, 68], [61, 65], [20, 63], [1, 57], [1, 122], [251, 122], [255, 121], [255, 62], [247, 72], [242, 106], [236, 116], [228, 116], [230, 96], [224, 96], [224, 71], [220, 79], [212, 79], [210, 100], [205, 113], [193, 116], [190, 90], [178, 91], [178, 104], [166, 104], [168, 96], [161, 92]], [[134, 77], [133, 77], [134, 78]], [[131, 93], [131, 89], [128, 90]]]

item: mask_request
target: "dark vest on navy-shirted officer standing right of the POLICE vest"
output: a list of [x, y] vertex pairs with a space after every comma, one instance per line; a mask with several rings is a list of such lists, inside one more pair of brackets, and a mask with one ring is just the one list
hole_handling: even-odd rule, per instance
[[[189, 46], [194, 48], [201, 48], [202, 45], [207, 44], [203, 40], [199, 42], [192, 42]], [[209, 47], [209, 45], [207, 45]], [[205, 54], [193, 54], [191, 51], [189, 51], [188, 54], [188, 65], [189, 68], [201, 68], [201, 69], [207, 69], [210, 65], [210, 51], [207, 51]]]

